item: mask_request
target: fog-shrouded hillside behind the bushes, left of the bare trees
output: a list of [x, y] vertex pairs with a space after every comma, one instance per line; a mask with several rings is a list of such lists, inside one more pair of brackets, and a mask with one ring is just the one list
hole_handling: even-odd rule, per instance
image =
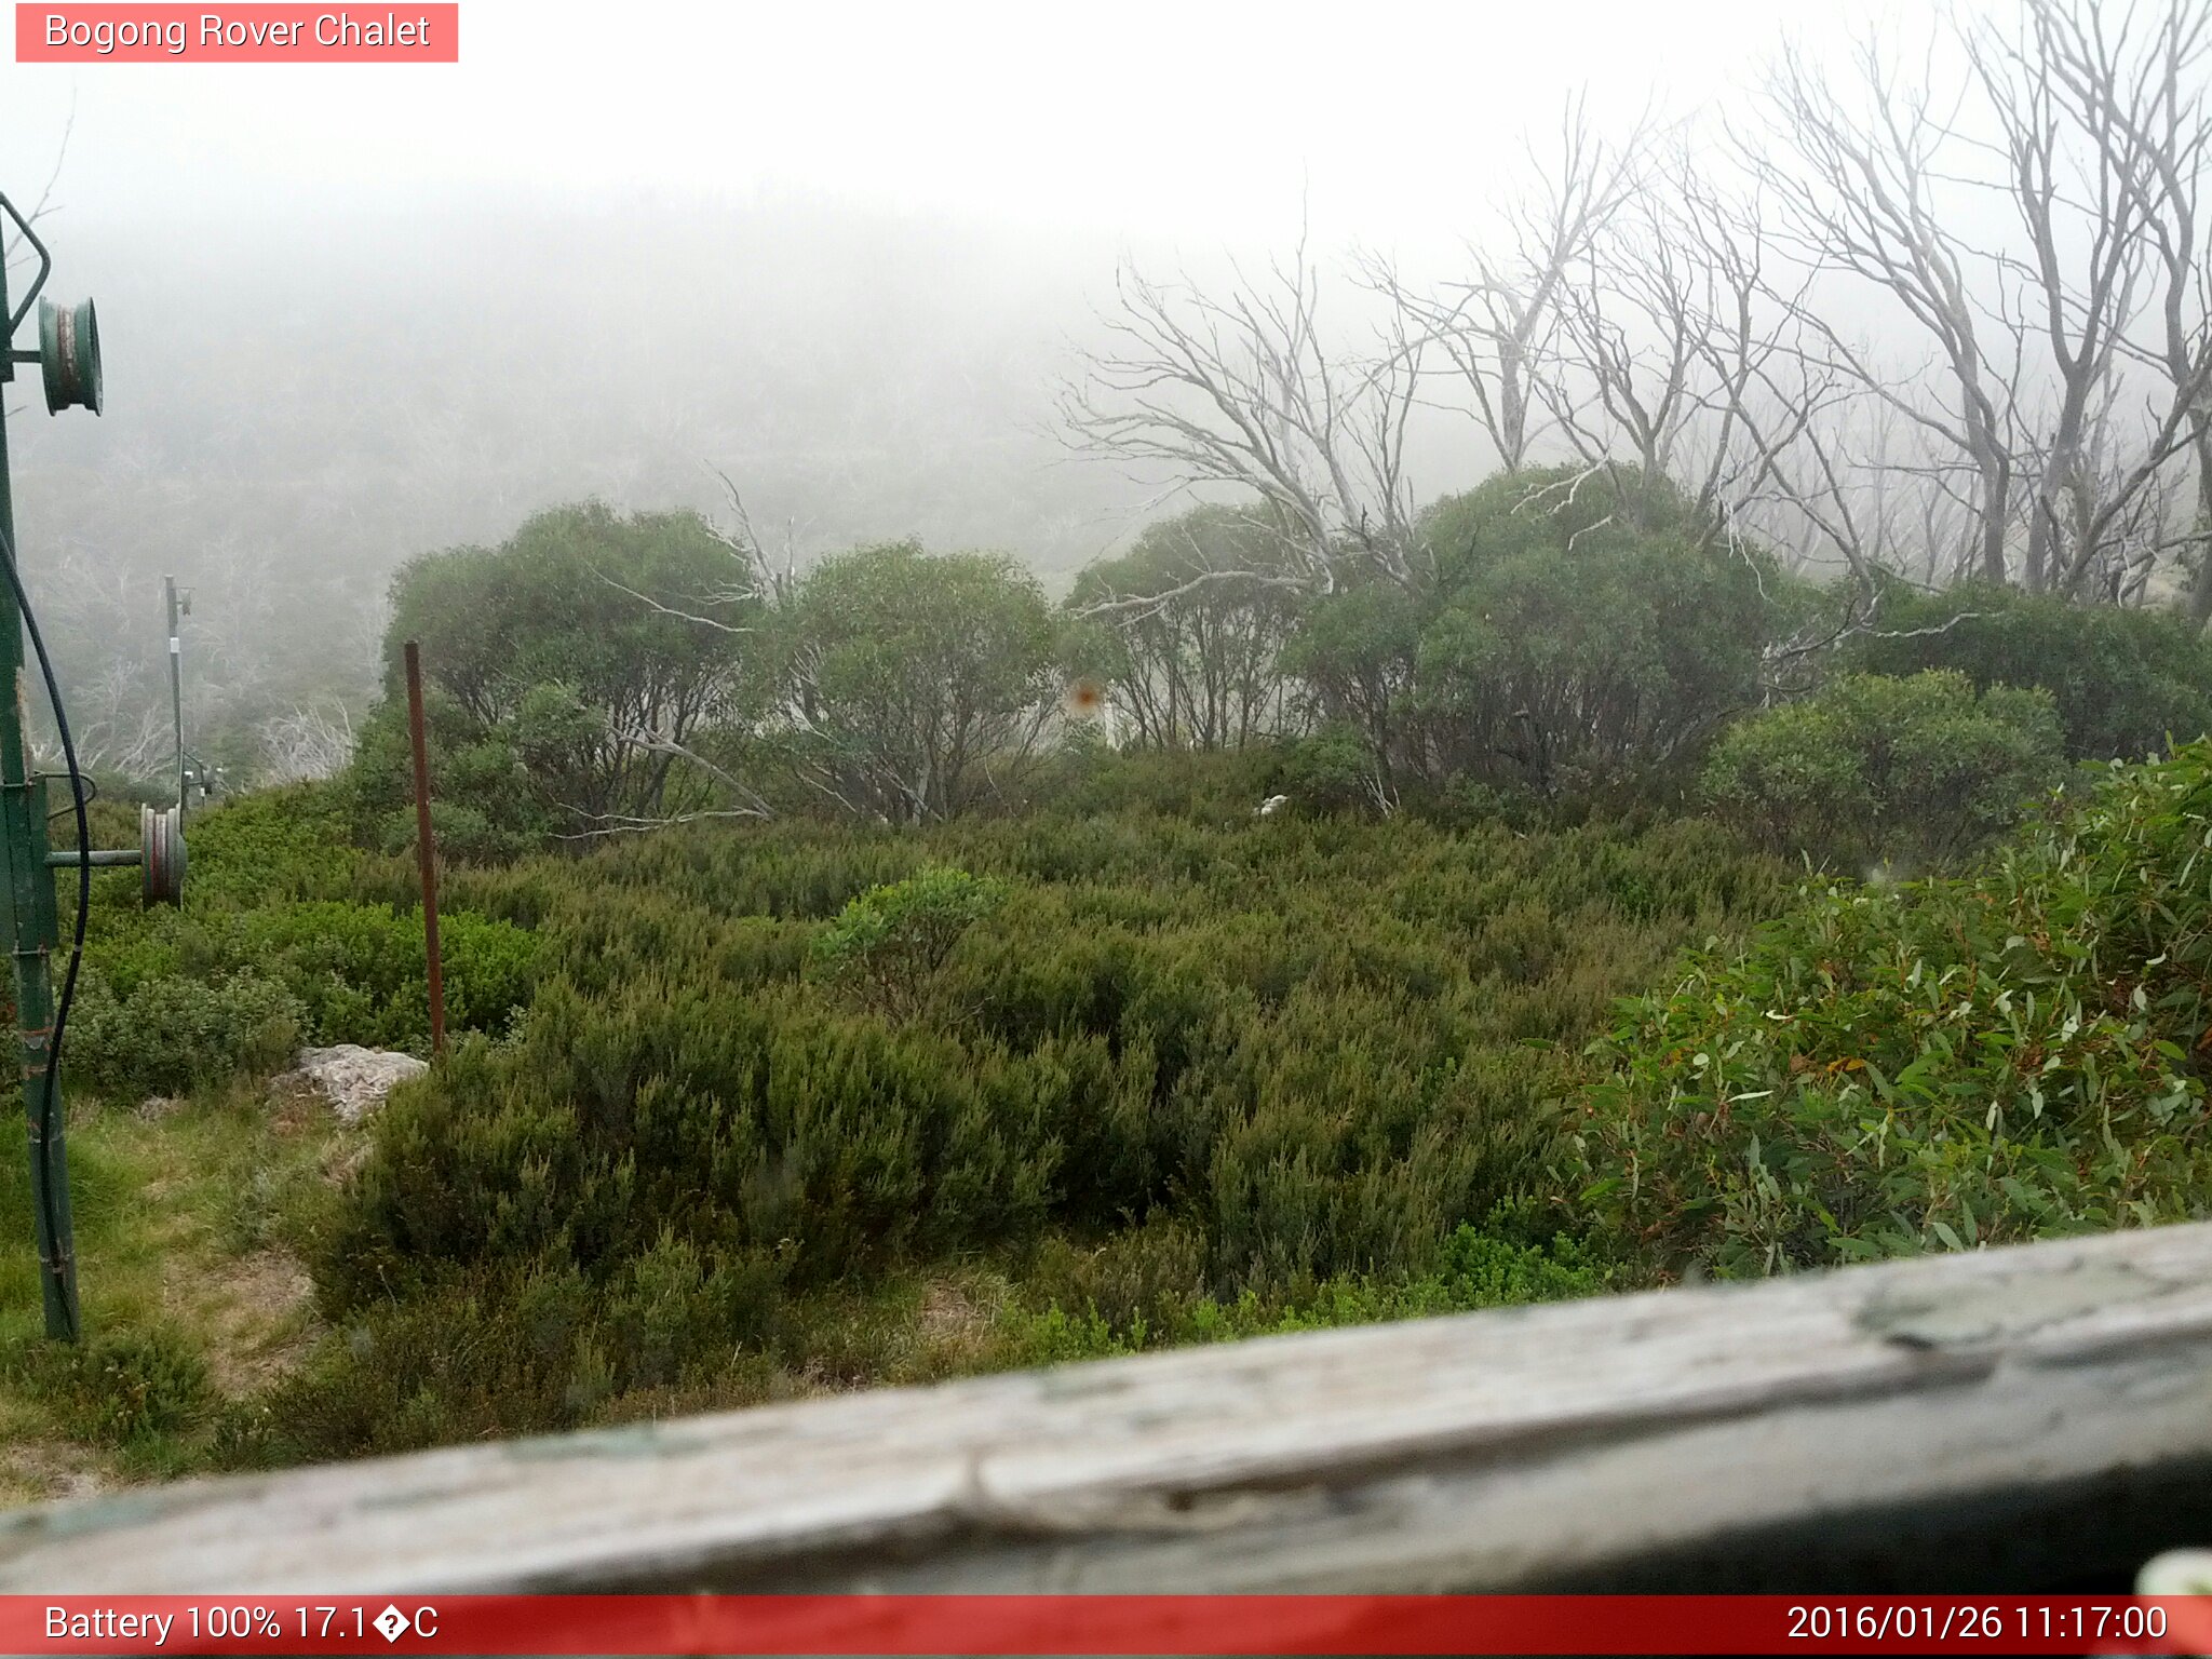
[[164, 573], [221, 721], [358, 697], [396, 564], [553, 502], [728, 513], [721, 469], [801, 557], [922, 535], [1066, 573], [1139, 498], [1046, 429], [1075, 250], [792, 204], [201, 226], [155, 259], [53, 237], [100, 299], [108, 414], [15, 422], [18, 511], [111, 750], [161, 712]]

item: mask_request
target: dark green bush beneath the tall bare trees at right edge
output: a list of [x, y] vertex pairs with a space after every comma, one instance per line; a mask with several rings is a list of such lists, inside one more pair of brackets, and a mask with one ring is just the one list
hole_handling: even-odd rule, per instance
[[2212, 641], [2172, 611], [2075, 604], [2048, 593], [1893, 584], [1874, 630], [1845, 641], [1849, 668], [1955, 668], [1975, 688], [2042, 686], [2075, 761], [2141, 761], [2168, 739], [2212, 732]]

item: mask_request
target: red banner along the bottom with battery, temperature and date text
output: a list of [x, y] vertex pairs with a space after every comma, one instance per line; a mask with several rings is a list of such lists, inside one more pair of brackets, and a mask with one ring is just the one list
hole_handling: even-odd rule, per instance
[[13, 1595], [0, 1652], [2212, 1652], [2212, 1597]]

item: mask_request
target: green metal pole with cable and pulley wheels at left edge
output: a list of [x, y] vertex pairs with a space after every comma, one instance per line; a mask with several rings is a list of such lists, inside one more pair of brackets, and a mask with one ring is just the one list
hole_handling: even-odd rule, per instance
[[[0, 319], [7, 319], [7, 270], [0, 268]], [[0, 385], [15, 378], [15, 343], [0, 341]], [[0, 533], [15, 542], [9, 493], [7, 398], [0, 392]], [[0, 551], [0, 557], [7, 557]], [[18, 564], [20, 571], [20, 564]], [[60, 1079], [46, 1099], [46, 1044], [53, 1042], [53, 949], [60, 925], [53, 874], [46, 869], [46, 787], [31, 774], [24, 737], [22, 613], [0, 584], [0, 860], [7, 865], [7, 942], [15, 967], [15, 1029], [22, 1046], [22, 1110], [31, 1135], [31, 1214], [38, 1230], [38, 1283], [46, 1303], [46, 1336], [77, 1340], [77, 1254], [69, 1217], [69, 1146]]]

